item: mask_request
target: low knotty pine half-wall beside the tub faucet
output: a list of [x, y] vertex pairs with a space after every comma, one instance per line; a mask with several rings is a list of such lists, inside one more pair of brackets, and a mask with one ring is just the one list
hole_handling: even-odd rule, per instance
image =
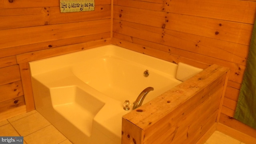
[[124, 115], [122, 143], [195, 144], [218, 122], [228, 75], [214, 64]]

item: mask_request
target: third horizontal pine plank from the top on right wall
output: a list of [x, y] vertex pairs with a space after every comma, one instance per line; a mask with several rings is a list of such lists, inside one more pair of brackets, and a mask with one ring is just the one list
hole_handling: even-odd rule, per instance
[[[246, 65], [249, 49], [249, 46], [242, 44], [118, 20], [114, 20], [114, 32], [130, 36], [131, 42], [136, 44], [147, 46], [149, 41], [150, 45], [164, 45], [152, 47], [164, 52], [172, 53], [174, 50], [168, 47], [173, 47], [242, 65]], [[114, 34], [114, 38], [120, 38], [116, 36]]]

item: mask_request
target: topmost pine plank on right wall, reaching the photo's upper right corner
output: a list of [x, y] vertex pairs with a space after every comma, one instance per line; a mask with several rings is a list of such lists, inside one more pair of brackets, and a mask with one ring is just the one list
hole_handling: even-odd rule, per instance
[[172, 0], [165, 9], [167, 12], [254, 24], [256, 3], [246, 0]]

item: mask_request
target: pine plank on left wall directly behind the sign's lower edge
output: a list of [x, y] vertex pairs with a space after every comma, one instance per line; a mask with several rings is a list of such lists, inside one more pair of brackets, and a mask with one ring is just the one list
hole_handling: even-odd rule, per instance
[[59, 7], [0, 9], [0, 30], [110, 19], [110, 14], [110, 5], [97, 5], [94, 11], [67, 13], [60, 13]]

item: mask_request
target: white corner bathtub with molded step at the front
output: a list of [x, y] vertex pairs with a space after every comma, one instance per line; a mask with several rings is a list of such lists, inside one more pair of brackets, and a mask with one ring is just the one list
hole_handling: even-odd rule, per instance
[[74, 144], [120, 144], [122, 116], [140, 92], [154, 88], [145, 104], [181, 83], [177, 64], [115, 45], [29, 64], [36, 110]]

